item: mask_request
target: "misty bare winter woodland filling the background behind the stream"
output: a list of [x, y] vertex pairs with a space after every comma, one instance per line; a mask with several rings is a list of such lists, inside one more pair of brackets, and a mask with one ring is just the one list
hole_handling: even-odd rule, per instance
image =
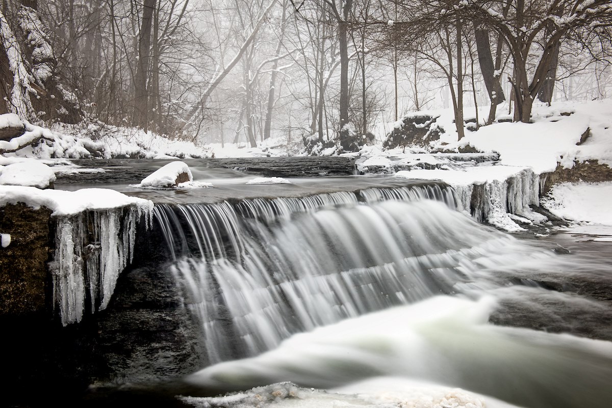
[[611, 26], [607, 0], [4, 0], [0, 114], [347, 152], [443, 106], [461, 139], [609, 97]]

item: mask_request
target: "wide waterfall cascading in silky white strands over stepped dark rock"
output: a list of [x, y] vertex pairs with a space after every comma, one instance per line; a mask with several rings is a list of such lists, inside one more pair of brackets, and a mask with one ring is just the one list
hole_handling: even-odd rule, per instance
[[370, 311], [498, 287], [490, 269], [547, 256], [456, 205], [431, 184], [157, 205], [154, 216], [214, 363]]

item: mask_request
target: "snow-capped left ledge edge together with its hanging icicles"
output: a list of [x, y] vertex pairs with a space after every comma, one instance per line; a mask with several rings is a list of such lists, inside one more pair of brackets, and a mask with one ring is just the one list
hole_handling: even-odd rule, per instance
[[121, 271], [132, 261], [136, 227], [144, 217], [151, 225], [153, 203], [110, 189], [41, 190], [0, 186], [0, 206], [25, 203], [45, 206], [56, 219], [56, 249], [50, 263], [53, 305], [62, 324], [108, 305]]

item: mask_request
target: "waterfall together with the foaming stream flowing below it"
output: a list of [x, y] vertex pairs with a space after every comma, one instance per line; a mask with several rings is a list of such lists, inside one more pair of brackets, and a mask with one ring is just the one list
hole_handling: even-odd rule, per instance
[[376, 180], [155, 205], [152, 229], [209, 362], [177, 401], [612, 404], [610, 243], [510, 235], [448, 186]]

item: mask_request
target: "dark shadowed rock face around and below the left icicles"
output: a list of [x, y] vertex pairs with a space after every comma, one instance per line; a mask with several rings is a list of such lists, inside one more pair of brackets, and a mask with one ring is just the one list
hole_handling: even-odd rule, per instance
[[10, 373], [4, 403], [78, 401], [90, 384], [169, 379], [201, 368], [200, 334], [163, 268], [163, 238], [145, 224], [106, 310], [62, 326], [50, 272], [57, 220], [47, 208], [0, 207], [0, 233], [11, 237], [0, 247], [3, 368]]

